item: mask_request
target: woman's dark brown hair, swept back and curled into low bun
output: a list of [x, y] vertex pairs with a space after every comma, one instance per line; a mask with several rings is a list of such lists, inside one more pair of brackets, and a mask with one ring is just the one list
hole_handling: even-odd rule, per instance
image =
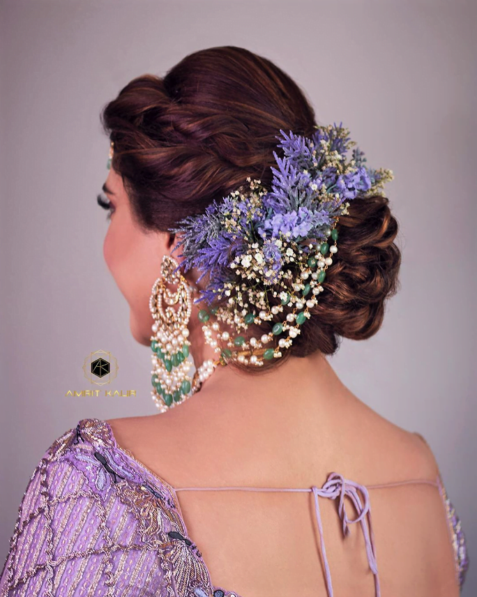
[[[248, 176], [270, 188], [280, 128], [309, 137], [317, 124], [305, 93], [286, 73], [235, 46], [189, 54], [165, 77], [133, 79], [104, 107], [101, 121], [137, 221], [162, 232], [203, 213]], [[337, 229], [338, 252], [312, 317], [281, 358], [246, 370], [266, 370], [290, 354], [333, 354], [340, 338], [364, 340], [379, 330], [401, 262], [388, 199], [356, 197]], [[268, 332], [275, 320], [264, 323]]]

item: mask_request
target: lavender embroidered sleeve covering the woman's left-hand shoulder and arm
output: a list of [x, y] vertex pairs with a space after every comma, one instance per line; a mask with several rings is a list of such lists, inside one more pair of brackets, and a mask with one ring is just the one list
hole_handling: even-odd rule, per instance
[[130, 471], [112, 464], [74, 428], [48, 448], [18, 508], [0, 597], [166, 595], [162, 536], [144, 536], [119, 499]]

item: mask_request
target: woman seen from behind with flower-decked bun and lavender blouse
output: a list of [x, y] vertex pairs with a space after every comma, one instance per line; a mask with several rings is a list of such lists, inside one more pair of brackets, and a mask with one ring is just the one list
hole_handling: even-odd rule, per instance
[[346, 161], [347, 130], [239, 47], [132, 80], [103, 125], [104, 257], [159, 412], [54, 441], [0, 595], [459, 594], [465, 537], [430, 447], [326, 359], [398, 288], [392, 172]]

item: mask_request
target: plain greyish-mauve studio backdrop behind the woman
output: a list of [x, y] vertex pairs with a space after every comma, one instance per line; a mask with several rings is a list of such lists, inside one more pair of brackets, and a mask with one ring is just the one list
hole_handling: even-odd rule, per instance
[[[151, 350], [103, 260], [100, 109], [133, 77], [238, 45], [294, 77], [319, 123], [342, 121], [370, 167], [393, 169], [401, 289], [379, 333], [344, 340], [331, 364], [429, 442], [467, 535], [464, 595], [477, 594], [475, 4], [12, 0], [0, 16], [1, 563], [56, 437], [81, 418], [157, 412]], [[67, 396], [104, 393], [82, 368], [97, 350], [119, 365], [107, 388], [135, 397]]]

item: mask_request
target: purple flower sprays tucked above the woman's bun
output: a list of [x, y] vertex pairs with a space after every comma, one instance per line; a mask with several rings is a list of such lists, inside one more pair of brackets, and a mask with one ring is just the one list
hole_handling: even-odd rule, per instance
[[280, 134], [278, 148], [283, 156], [273, 151], [277, 167], [271, 168], [270, 190], [258, 185], [249, 192], [243, 185], [239, 192], [215, 199], [204, 213], [184, 218], [170, 229], [182, 236], [176, 248], [183, 248], [185, 271], [199, 269], [199, 280], [209, 275], [202, 294], [210, 303], [222, 294], [227, 282], [236, 284], [237, 273], [230, 263], [253, 243], [264, 254], [264, 280], [276, 282], [285, 259], [275, 240], [301, 243], [326, 238], [326, 229], [346, 213], [345, 202], [369, 190], [377, 192], [393, 179], [391, 170], [366, 167], [358, 148], [352, 152], [354, 163], [347, 160], [350, 137], [342, 123], [319, 126], [310, 137], [294, 135], [291, 130], [287, 135], [280, 129]]

